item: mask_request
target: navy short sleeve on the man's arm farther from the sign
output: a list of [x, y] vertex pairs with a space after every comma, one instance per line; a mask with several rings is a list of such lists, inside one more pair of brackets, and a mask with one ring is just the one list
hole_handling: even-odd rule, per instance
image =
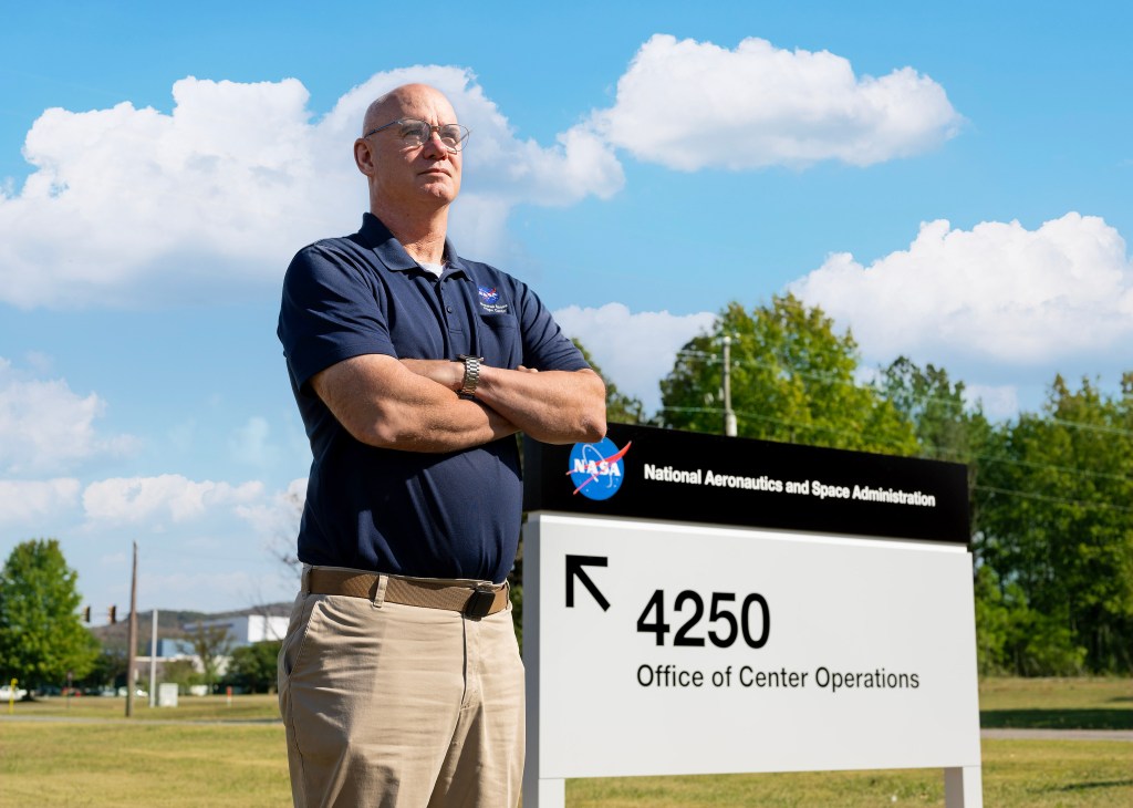
[[297, 388], [353, 356], [397, 356], [381, 284], [350, 247], [321, 241], [288, 266], [276, 333]]

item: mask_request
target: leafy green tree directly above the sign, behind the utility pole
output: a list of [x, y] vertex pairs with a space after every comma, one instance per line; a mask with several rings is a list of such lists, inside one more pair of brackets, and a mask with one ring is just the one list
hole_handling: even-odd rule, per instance
[[665, 426], [722, 432], [721, 345], [731, 338], [732, 409], [739, 435], [787, 443], [914, 454], [909, 420], [877, 389], [855, 379], [858, 346], [835, 333], [820, 308], [793, 295], [746, 312], [719, 314], [712, 333], [693, 338], [662, 380]]

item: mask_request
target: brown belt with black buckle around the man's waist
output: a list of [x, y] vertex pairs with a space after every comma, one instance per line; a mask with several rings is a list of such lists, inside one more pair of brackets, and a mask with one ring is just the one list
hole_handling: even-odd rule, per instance
[[323, 569], [314, 567], [303, 577], [303, 590], [313, 595], [347, 595], [377, 597], [378, 585], [386, 579], [384, 599], [407, 606], [444, 609], [469, 618], [486, 618], [508, 607], [508, 582], [449, 584], [446, 581], [398, 578], [374, 572]]

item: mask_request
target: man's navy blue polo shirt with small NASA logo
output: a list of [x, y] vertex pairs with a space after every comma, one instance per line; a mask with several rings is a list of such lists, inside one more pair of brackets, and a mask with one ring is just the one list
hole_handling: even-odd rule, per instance
[[494, 581], [511, 569], [522, 508], [513, 436], [442, 454], [369, 446], [309, 384], [320, 371], [363, 354], [587, 367], [527, 284], [459, 257], [448, 243], [445, 256], [436, 278], [367, 213], [357, 233], [305, 247], [288, 267], [278, 333], [314, 454], [301, 561]]

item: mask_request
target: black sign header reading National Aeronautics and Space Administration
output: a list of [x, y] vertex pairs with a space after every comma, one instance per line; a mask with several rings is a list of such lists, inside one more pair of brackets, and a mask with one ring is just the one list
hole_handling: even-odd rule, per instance
[[970, 541], [959, 463], [625, 424], [523, 462], [527, 511]]

